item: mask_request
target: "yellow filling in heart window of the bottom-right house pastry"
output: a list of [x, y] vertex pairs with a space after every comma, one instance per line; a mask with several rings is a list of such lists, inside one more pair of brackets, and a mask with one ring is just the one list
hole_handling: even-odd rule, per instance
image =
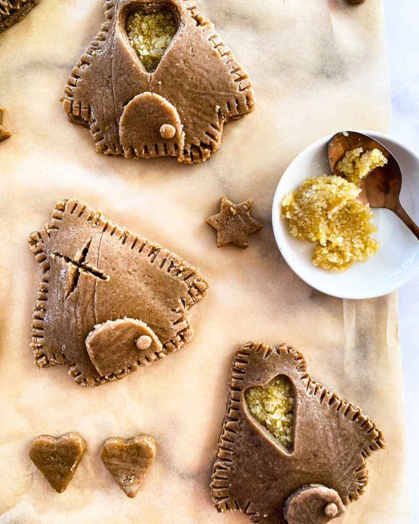
[[264, 386], [248, 388], [245, 395], [253, 417], [290, 448], [294, 425], [294, 388], [290, 379], [278, 375]]

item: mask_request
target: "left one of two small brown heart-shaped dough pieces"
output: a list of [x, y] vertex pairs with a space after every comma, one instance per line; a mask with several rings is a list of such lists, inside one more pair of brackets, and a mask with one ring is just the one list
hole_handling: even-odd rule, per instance
[[40, 435], [31, 443], [29, 456], [56, 492], [62, 493], [73, 478], [85, 449], [84, 440], [76, 433], [58, 438]]

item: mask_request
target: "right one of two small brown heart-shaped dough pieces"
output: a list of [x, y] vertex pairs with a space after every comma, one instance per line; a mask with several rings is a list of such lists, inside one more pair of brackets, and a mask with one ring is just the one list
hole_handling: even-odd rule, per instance
[[156, 456], [156, 443], [151, 436], [132, 439], [112, 437], [105, 440], [101, 459], [114, 481], [130, 498], [134, 498], [142, 479]]

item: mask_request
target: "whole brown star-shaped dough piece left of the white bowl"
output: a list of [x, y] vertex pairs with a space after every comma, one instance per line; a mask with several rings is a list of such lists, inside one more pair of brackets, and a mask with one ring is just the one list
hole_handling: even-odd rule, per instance
[[217, 230], [217, 247], [229, 242], [242, 249], [249, 246], [250, 233], [262, 227], [262, 224], [250, 216], [252, 203], [252, 200], [246, 200], [241, 204], [233, 204], [223, 196], [218, 215], [206, 219], [206, 222]]

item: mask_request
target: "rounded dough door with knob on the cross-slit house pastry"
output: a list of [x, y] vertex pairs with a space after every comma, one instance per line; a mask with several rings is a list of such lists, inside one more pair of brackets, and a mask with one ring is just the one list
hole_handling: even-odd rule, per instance
[[145, 322], [128, 318], [96, 324], [86, 337], [86, 348], [103, 377], [134, 367], [144, 359], [152, 362], [162, 351], [156, 333]]

